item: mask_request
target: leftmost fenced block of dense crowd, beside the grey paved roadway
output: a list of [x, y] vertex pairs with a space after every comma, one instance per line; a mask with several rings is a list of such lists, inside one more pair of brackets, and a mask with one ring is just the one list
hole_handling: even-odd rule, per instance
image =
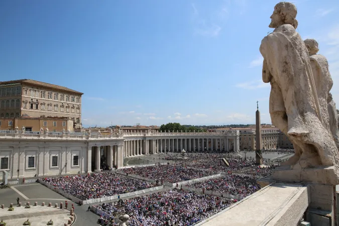
[[146, 181], [112, 173], [52, 177], [42, 180], [80, 200], [112, 196], [153, 187]]

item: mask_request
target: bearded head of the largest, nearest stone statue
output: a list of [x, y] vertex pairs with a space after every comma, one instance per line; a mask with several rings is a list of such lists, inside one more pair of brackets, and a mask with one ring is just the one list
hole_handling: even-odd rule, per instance
[[280, 2], [274, 7], [272, 16], [270, 17], [270, 28], [277, 28], [284, 24], [290, 24], [295, 29], [298, 27], [298, 21], [295, 19], [297, 16], [297, 8], [292, 3]]

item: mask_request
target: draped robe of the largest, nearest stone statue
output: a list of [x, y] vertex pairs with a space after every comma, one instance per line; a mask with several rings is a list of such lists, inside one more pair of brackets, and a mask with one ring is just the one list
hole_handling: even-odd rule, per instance
[[313, 145], [319, 164], [333, 165], [339, 155], [332, 136], [318, 118], [313, 93], [316, 90], [308, 74], [310, 60], [300, 35], [292, 25], [282, 25], [262, 40], [260, 52], [263, 68], [269, 70], [266, 75], [263, 72], [263, 81], [271, 82], [271, 116], [276, 111], [286, 112], [286, 135], [290, 140]]

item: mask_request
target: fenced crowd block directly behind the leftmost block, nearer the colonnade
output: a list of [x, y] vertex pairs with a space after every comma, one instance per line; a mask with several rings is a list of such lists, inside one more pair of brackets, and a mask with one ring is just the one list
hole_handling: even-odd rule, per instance
[[211, 171], [190, 169], [180, 165], [169, 164], [128, 168], [119, 170], [119, 172], [135, 174], [138, 176], [170, 183], [176, 183], [213, 175], [213, 172]]

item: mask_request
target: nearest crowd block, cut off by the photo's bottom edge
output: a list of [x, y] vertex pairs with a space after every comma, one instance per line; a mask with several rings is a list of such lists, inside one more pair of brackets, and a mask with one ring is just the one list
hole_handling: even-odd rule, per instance
[[128, 225], [193, 225], [231, 205], [233, 200], [172, 189], [116, 202], [97, 208], [107, 214], [129, 214]]

